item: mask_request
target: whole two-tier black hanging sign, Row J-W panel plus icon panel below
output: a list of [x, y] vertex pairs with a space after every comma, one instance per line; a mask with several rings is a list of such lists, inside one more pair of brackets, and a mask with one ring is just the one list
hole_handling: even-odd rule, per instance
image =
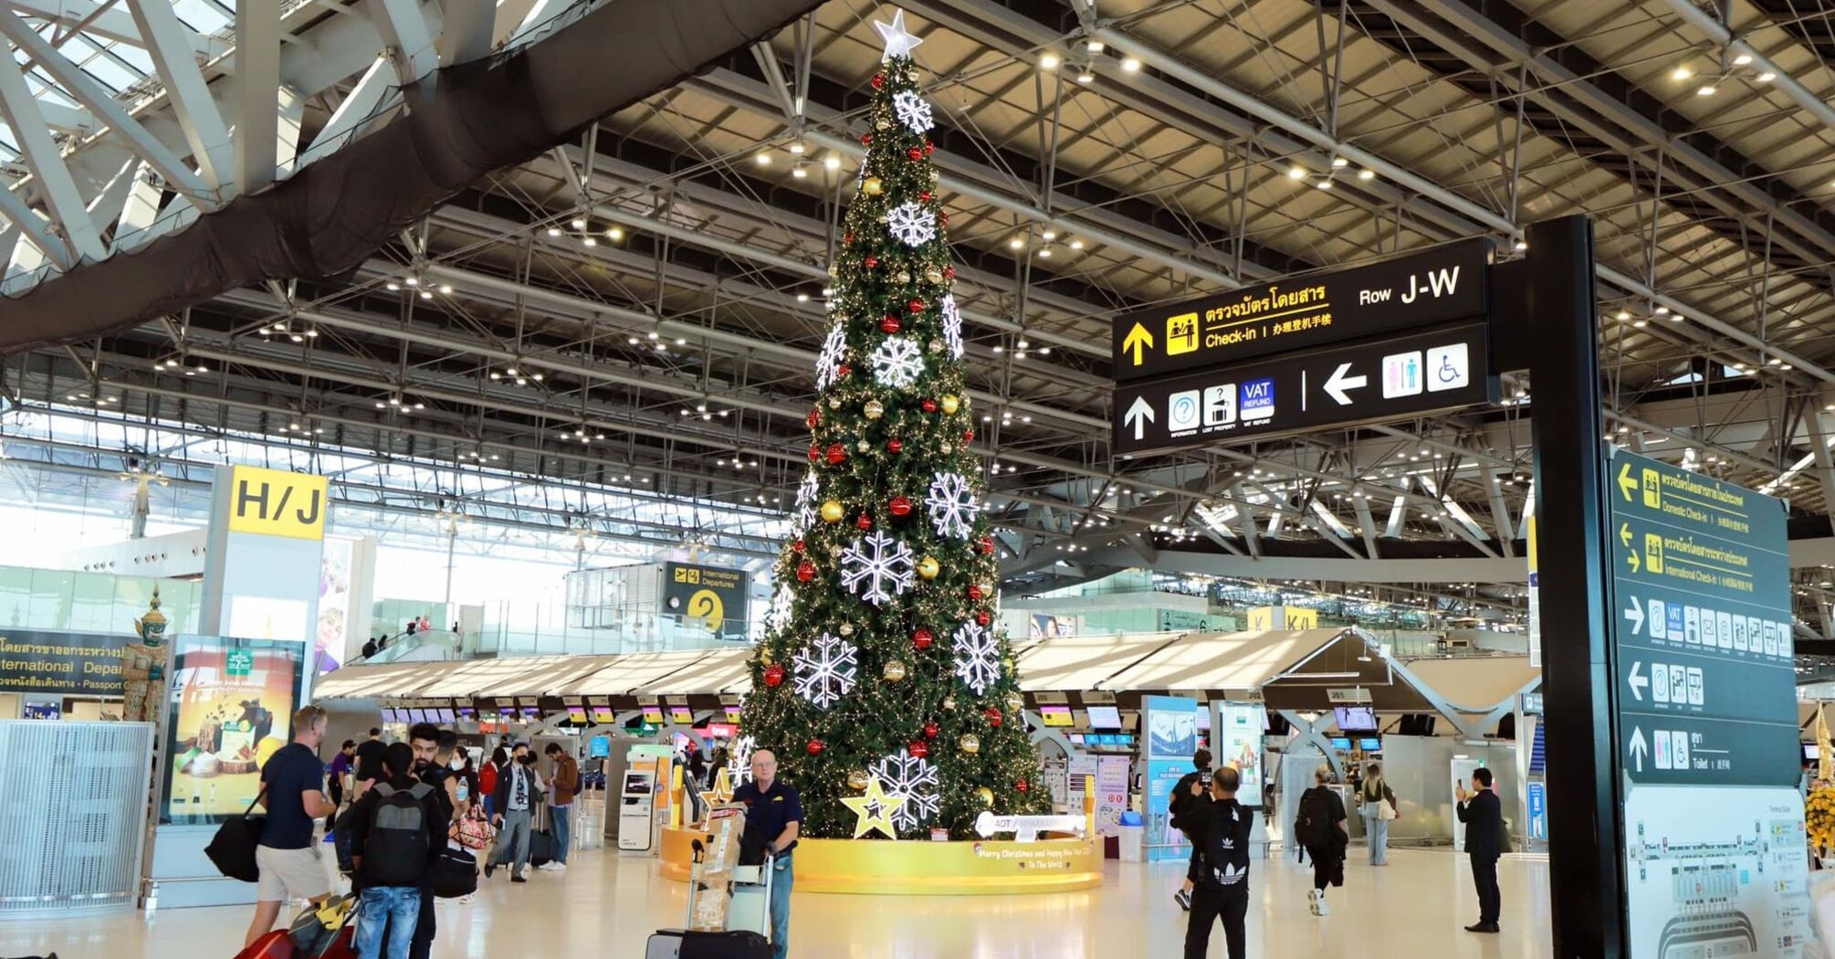
[[[1496, 402], [1488, 298], [1490, 241], [1475, 239], [1123, 316], [1114, 450], [1134, 456]], [[1198, 371], [1169, 377], [1185, 369]]]

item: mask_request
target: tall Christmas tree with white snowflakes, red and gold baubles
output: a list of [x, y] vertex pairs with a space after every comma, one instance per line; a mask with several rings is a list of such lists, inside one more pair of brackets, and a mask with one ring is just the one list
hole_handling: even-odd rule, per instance
[[910, 59], [921, 40], [903, 13], [875, 26], [886, 51], [829, 266], [809, 472], [741, 733], [773, 748], [802, 792], [804, 836], [855, 836], [884, 795], [901, 838], [936, 827], [967, 838], [982, 810], [1044, 803], [995, 621], [998, 562], [971, 450], [949, 213]]

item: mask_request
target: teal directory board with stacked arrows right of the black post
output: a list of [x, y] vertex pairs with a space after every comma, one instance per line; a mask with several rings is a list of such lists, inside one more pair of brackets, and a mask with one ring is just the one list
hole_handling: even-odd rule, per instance
[[1624, 772], [1796, 784], [1784, 502], [1622, 450], [1611, 483]]

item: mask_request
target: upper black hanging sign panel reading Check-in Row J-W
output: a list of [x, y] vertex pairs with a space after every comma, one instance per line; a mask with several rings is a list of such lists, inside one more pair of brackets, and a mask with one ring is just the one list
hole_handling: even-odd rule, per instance
[[1116, 382], [1483, 318], [1492, 243], [1470, 239], [1114, 320]]

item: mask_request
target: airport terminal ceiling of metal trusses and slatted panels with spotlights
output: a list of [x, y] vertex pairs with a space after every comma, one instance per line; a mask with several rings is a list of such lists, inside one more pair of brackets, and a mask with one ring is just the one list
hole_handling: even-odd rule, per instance
[[[222, 57], [242, 33], [235, 4], [176, 0], [167, 17], [154, 2], [0, 0], [31, 62], [20, 88], [0, 77], [20, 94], [7, 118], [37, 103], [51, 129], [0, 130], [0, 209], [31, 219], [0, 231], [7, 292], [72, 279], [39, 244], [88, 237], [68, 228], [90, 208], [105, 254], [193, 215], [182, 173], [158, 167], [209, 156], [198, 97], [228, 110]], [[402, 20], [373, 22], [384, 7]], [[541, 7], [499, 4], [490, 42]], [[1138, 566], [1318, 581], [1316, 564], [1519, 614], [1532, 382], [1507, 377], [1503, 404], [1461, 415], [1125, 459], [1108, 445], [1110, 320], [1461, 237], [1510, 259], [1521, 224], [1576, 211], [1596, 219], [1607, 430], [1787, 496], [1796, 538], [1831, 535], [1826, 13], [1738, 0], [1747, 46], [1727, 48], [1690, 0], [903, 7], [925, 39], [1009, 595]], [[422, 28], [466, 9], [428, 4]], [[440, 509], [484, 513], [547, 481], [573, 492], [517, 522], [769, 553], [804, 470], [877, 9], [822, 4], [479, 180], [349, 276], [0, 358], [15, 459], [0, 470], [132, 456], [196, 476], [217, 439], [268, 437], [303, 468], [398, 463]], [[398, 108], [373, 66], [411, 11], [281, 6], [275, 175]], [[321, 55], [290, 53], [303, 46]], [[182, 70], [198, 59], [211, 66]], [[139, 123], [108, 123], [121, 108]], [[92, 428], [53, 437], [53, 408]], [[341, 496], [385, 498], [371, 487]], [[695, 509], [637, 527], [620, 520], [651, 514], [618, 513], [626, 496]], [[1826, 575], [1796, 571], [1800, 626], [1822, 637]]]

